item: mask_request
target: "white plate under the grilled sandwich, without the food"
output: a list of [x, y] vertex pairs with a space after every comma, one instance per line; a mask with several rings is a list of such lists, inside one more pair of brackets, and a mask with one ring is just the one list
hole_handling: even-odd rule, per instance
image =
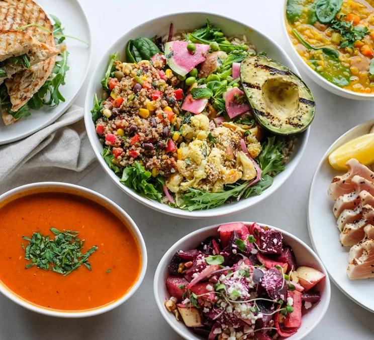
[[74, 39], [66, 39], [70, 69], [66, 74], [66, 84], [60, 88], [65, 102], [60, 102], [54, 108], [45, 107], [32, 111], [31, 116], [22, 118], [13, 125], [5, 126], [3, 119], [0, 119], [0, 145], [25, 138], [54, 122], [72, 103], [88, 72], [91, 59], [91, 35], [88, 21], [77, 0], [37, 0], [37, 3], [48, 15], [52, 14], [61, 20], [66, 35], [82, 39], [89, 43], [89, 46]]

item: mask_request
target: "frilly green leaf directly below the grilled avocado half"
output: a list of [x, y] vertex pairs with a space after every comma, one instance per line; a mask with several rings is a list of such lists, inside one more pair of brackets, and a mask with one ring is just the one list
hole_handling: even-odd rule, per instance
[[275, 136], [268, 137], [267, 141], [262, 145], [262, 151], [258, 155], [258, 162], [262, 171], [262, 176], [268, 173], [280, 173], [285, 169], [282, 160], [285, 157], [281, 150], [285, 147], [285, 140]]

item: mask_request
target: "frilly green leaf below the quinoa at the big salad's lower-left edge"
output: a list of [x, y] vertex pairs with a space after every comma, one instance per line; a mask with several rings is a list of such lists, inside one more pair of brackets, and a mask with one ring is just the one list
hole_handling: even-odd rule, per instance
[[[134, 189], [137, 193], [143, 194], [145, 197], [160, 201], [162, 194], [150, 183], [153, 179], [151, 176], [152, 174], [139, 161], [135, 161], [134, 164], [127, 165], [123, 169], [120, 182]], [[158, 181], [157, 184], [160, 185], [161, 182]]]

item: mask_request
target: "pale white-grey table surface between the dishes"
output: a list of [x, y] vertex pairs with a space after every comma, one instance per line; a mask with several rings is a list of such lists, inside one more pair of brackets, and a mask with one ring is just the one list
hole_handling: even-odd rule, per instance
[[[255, 27], [287, 49], [280, 28], [283, 0], [81, 0], [81, 4], [92, 31], [91, 70], [120, 35], [143, 21], [172, 12], [204, 11], [226, 15]], [[78, 32], [76, 35], [79, 36]], [[308, 194], [320, 158], [343, 132], [373, 118], [374, 114], [373, 103], [337, 97], [314, 84], [304, 74], [302, 76], [315, 95], [317, 115], [304, 156], [282, 188], [244, 213], [221, 219], [184, 220], [157, 213], [136, 203], [112, 183], [98, 164], [78, 184], [111, 198], [138, 224], [148, 249], [148, 268], [141, 287], [124, 305], [104, 315], [85, 319], [38, 315], [1, 295], [0, 339], [179, 339], [156, 307], [152, 284], [158, 261], [180, 237], [215, 223], [258, 221], [283, 228], [310, 245], [307, 230]], [[76, 104], [83, 106], [86, 86], [87, 81]], [[373, 320], [372, 313], [356, 305], [332, 284], [330, 307], [324, 319], [306, 339], [373, 339]]]

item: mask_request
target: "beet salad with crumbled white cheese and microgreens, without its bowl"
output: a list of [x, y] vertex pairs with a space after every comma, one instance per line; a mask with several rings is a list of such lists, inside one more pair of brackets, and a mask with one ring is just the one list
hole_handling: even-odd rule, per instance
[[[218, 237], [217, 237], [218, 236]], [[228, 223], [174, 254], [164, 306], [208, 340], [286, 338], [320, 300], [325, 275], [297, 263], [280, 231]]]

